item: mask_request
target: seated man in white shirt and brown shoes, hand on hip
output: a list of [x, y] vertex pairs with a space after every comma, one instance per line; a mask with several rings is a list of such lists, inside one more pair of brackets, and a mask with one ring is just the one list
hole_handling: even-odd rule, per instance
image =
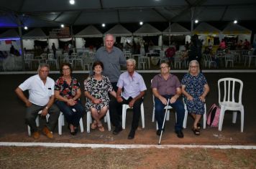
[[[38, 74], [29, 77], [22, 84], [17, 87], [15, 92], [19, 98], [26, 104], [26, 123], [31, 128], [32, 135], [35, 139], [39, 138], [39, 132], [35, 119], [38, 112], [42, 110], [42, 116], [50, 115], [49, 120], [42, 132], [49, 138], [52, 138], [52, 131], [58, 122], [60, 110], [54, 105], [54, 85], [53, 79], [48, 77], [50, 67], [48, 64], [40, 64], [37, 72]], [[23, 91], [29, 90], [29, 98], [27, 98]]]

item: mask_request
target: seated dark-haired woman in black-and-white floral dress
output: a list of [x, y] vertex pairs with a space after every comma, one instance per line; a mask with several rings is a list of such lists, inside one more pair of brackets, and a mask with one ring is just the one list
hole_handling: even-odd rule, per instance
[[101, 124], [101, 118], [106, 115], [109, 109], [109, 93], [116, 97], [109, 78], [102, 75], [104, 65], [102, 62], [96, 61], [93, 63], [93, 76], [89, 76], [84, 81], [84, 87], [86, 95], [86, 110], [91, 111], [91, 115], [94, 119], [91, 124], [91, 129], [99, 128], [101, 132], [104, 131], [104, 127]]

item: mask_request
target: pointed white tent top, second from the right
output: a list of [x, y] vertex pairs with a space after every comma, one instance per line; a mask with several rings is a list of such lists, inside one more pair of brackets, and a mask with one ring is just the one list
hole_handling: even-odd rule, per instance
[[196, 26], [196, 29], [193, 29], [193, 34], [220, 34], [221, 31], [216, 29], [216, 27], [207, 24], [206, 22], [202, 22]]

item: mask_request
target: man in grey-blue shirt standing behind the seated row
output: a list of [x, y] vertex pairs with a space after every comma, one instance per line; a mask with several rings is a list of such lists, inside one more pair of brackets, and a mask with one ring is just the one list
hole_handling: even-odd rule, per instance
[[[126, 66], [126, 59], [124, 53], [119, 48], [114, 47], [114, 42], [114, 36], [112, 34], [106, 34], [105, 47], [100, 47], [97, 50], [95, 61], [101, 61], [104, 64], [103, 74], [109, 77], [114, 90], [117, 91], [116, 84], [121, 74], [120, 66]], [[116, 103], [116, 98], [110, 95], [109, 113], [111, 123], [115, 127], [114, 134], [118, 134], [122, 131], [122, 126], [119, 125], [122, 115], [122, 106], [117, 107], [118, 116], [116, 117], [114, 115], [114, 113], [116, 113], [114, 112], [116, 110]]]

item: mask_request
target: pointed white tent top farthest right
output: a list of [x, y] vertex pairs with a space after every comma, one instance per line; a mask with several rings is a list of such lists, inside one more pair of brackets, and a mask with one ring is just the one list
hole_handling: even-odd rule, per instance
[[229, 23], [223, 29], [222, 34], [252, 34], [252, 31], [238, 24]]

